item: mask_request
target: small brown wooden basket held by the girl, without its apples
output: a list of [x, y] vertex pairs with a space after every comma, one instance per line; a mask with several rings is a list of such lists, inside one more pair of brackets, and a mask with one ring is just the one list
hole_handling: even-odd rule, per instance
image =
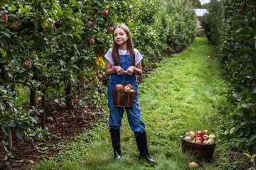
[[113, 105], [117, 107], [132, 107], [134, 106], [135, 91], [116, 91], [112, 87]]

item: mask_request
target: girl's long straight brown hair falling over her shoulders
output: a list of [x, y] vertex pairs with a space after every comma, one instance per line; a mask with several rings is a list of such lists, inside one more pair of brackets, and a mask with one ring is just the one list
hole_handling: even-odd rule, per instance
[[[124, 30], [124, 32], [128, 35], [128, 40], [127, 40], [127, 54], [129, 54], [132, 57], [132, 65], [135, 66], [135, 52], [133, 50], [133, 42], [132, 42], [132, 36], [131, 33], [129, 31], [129, 29], [127, 28], [127, 26], [125, 26], [124, 24], [119, 24], [117, 26], [114, 27], [114, 30], [117, 28], [121, 28]], [[118, 52], [119, 46], [117, 45], [116, 42], [114, 42], [114, 30], [112, 32], [112, 36], [113, 36], [113, 48], [112, 48], [112, 60], [114, 61], [114, 65], [118, 65], [119, 64], [119, 59], [120, 59], [120, 55]]]

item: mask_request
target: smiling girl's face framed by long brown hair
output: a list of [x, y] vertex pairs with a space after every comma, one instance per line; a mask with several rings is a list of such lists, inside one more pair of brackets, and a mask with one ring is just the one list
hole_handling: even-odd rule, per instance
[[129, 36], [127, 35], [127, 33], [125, 33], [125, 31], [122, 28], [116, 28], [114, 30], [114, 42], [117, 43], [119, 48], [126, 48], [128, 39]]

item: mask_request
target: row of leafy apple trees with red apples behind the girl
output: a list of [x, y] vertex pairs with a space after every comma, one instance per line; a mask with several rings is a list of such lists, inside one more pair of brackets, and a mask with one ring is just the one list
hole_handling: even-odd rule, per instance
[[[19, 138], [36, 132], [36, 113], [43, 113], [36, 107], [38, 96], [42, 103], [65, 96], [56, 101], [68, 108], [104, 107], [104, 55], [112, 47], [117, 24], [126, 24], [132, 32], [144, 70], [183, 50], [196, 36], [193, 7], [183, 0], [1, 3], [1, 140], [8, 135], [6, 130], [15, 130]], [[16, 102], [23, 87], [31, 91], [29, 110]]]

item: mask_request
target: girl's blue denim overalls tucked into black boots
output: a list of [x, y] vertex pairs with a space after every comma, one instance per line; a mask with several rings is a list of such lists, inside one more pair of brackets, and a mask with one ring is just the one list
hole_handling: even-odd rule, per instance
[[[122, 67], [124, 71], [128, 69], [128, 67], [132, 66], [132, 57], [128, 55], [120, 55], [119, 59], [119, 67]], [[108, 98], [108, 106], [110, 108], [110, 128], [120, 128], [122, 126], [122, 117], [124, 115], [124, 108], [113, 106], [113, 97], [112, 97], [112, 87], [115, 85], [122, 84], [125, 86], [126, 84], [131, 84], [132, 89], [136, 91], [134, 106], [133, 107], [125, 107], [125, 111], [127, 112], [128, 123], [132, 131], [134, 132], [142, 132], [145, 128], [145, 124], [141, 120], [141, 113], [139, 111], [139, 103], [138, 103], [138, 84], [137, 78], [135, 74], [129, 76], [128, 74], [118, 75], [117, 73], [112, 74], [110, 80], [107, 84], [107, 98]]]

